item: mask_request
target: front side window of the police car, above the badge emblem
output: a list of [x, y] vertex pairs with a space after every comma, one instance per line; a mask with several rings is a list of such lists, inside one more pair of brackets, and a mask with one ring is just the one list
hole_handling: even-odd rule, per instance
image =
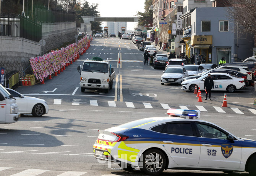
[[201, 138], [216, 138], [216, 139], [224, 139], [228, 138], [228, 135], [220, 130], [206, 124], [196, 123], [196, 127], [198, 128], [199, 135]]

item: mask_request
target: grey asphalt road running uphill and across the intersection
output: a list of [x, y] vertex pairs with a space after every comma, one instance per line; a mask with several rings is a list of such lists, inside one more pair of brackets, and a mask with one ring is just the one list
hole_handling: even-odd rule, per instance
[[[201, 119], [227, 128], [236, 136], [256, 140], [253, 87], [227, 94], [229, 108], [221, 108], [220, 112], [225, 92], [213, 92], [212, 101], [198, 103], [194, 94], [181, 90], [178, 85], [161, 85], [160, 75], [164, 70], [144, 65], [142, 54], [130, 40], [94, 38], [86, 54], [52, 80], [19, 87], [17, 91], [21, 94], [46, 100], [50, 110], [42, 117], [27, 115], [15, 124], [0, 125], [0, 175], [143, 175], [139, 170], [127, 172], [116, 164], [94, 159], [92, 146], [98, 129], [146, 117], [167, 116], [169, 107], [203, 110]], [[116, 79], [108, 94], [80, 90], [76, 67], [94, 56], [109, 58], [114, 67]], [[181, 170], [167, 170], [162, 175], [206, 174], [226, 175]]]

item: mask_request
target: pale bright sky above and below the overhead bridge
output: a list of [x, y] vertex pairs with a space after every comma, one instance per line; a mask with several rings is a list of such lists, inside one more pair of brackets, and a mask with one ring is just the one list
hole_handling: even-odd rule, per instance
[[[104, 17], [134, 17], [137, 11], [144, 11], [144, 0], [87, 0], [87, 2], [99, 3], [100, 16]], [[126, 30], [133, 30], [134, 24], [135, 22], [127, 22]]]

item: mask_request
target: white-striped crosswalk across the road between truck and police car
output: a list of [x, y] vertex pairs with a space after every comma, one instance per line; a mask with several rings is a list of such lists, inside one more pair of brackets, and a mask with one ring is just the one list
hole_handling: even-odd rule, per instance
[[211, 113], [235, 113], [235, 114], [249, 114], [256, 115], [256, 109], [252, 108], [234, 108], [228, 107], [223, 108], [221, 106], [199, 106], [199, 105], [171, 105], [167, 103], [150, 103], [150, 102], [131, 102], [131, 101], [99, 101], [99, 100], [86, 100], [86, 101], [65, 101], [62, 99], [47, 100], [49, 104], [53, 105], [83, 105], [83, 106], [108, 106], [108, 107], [118, 107], [118, 108], [136, 108], [136, 109], [194, 109], [203, 112]]

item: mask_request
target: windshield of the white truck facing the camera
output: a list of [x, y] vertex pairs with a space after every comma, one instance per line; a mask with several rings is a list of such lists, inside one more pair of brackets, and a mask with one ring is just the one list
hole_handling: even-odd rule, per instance
[[109, 69], [107, 63], [84, 62], [82, 71], [108, 73]]

